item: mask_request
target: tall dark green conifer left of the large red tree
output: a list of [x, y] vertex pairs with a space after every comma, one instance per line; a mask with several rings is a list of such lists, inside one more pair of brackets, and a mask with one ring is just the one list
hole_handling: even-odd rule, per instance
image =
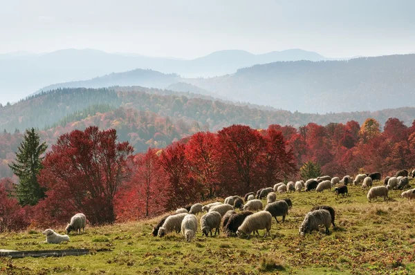
[[42, 169], [42, 154], [48, 146], [45, 142], [40, 144], [39, 140], [35, 129], [26, 130], [17, 149], [16, 162], [9, 164], [19, 178], [16, 194], [20, 205], [36, 205], [38, 200], [45, 197], [45, 190], [37, 182], [37, 174]]

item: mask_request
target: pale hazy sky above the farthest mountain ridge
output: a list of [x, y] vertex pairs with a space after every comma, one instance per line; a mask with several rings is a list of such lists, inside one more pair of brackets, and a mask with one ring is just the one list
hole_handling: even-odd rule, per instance
[[0, 0], [0, 53], [62, 48], [194, 58], [302, 48], [326, 57], [415, 51], [407, 0]]

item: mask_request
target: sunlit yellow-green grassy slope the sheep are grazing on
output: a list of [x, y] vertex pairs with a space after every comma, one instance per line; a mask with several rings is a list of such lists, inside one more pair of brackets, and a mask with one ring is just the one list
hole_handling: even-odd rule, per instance
[[[0, 274], [415, 274], [415, 202], [401, 199], [401, 191], [390, 191], [385, 202], [367, 202], [366, 193], [352, 186], [344, 198], [329, 191], [278, 195], [293, 200], [286, 222], [273, 220], [271, 236], [249, 240], [223, 234], [206, 238], [200, 231], [190, 243], [181, 234], [154, 238], [149, 233], [158, 219], [87, 227], [60, 245], [40, 243], [42, 229], [0, 234], [2, 249], [92, 251], [64, 258], [0, 258]], [[329, 235], [322, 229], [299, 238], [304, 215], [317, 204], [334, 207], [338, 227]]]

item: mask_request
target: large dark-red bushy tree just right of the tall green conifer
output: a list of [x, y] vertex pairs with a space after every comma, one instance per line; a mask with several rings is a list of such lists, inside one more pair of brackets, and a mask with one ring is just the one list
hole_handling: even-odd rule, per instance
[[91, 126], [61, 135], [39, 175], [48, 190], [41, 207], [50, 212], [44, 214], [63, 222], [83, 212], [92, 224], [114, 222], [113, 200], [129, 176], [132, 152], [128, 142], [117, 141], [114, 129]]

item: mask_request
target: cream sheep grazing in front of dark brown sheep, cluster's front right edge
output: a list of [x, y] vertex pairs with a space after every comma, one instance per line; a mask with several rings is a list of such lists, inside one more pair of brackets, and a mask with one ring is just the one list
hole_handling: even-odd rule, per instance
[[270, 236], [270, 229], [273, 225], [273, 216], [271, 216], [270, 212], [268, 211], [259, 211], [255, 214], [252, 214], [248, 217], [246, 217], [245, 220], [243, 220], [242, 225], [238, 227], [237, 230], [237, 236], [239, 238], [243, 236], [247, 236], [249, 238], [250, 234], [252, 232], [257, 232], [259, 235], [258, 230], [266, 229], [264, 238], [266, 236]]

